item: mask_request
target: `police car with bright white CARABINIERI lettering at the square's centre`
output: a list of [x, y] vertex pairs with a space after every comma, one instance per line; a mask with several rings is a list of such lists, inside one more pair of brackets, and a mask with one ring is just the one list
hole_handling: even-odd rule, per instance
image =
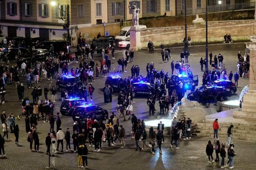
[[[165, 94], [166, 90], [164, 89]], [[158, 92], [161, 92], [160, 89], [158, 89]], [[164, 93], [164, 92], [163, 92]], [[155, 94], [155, 85], [148, 83], [148, 82], [137, 82], [132, 84], [132, 96], [133, 97], [148, 97], [148, 95]]]

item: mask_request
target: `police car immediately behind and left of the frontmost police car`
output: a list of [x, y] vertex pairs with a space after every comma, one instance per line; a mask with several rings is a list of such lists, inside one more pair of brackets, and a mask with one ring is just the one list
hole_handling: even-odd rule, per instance
[[61, 115], [71, 115], [77, 106], [81, 106], [82, 103], [86, 103], [85, 100], [70, 97], [62, 101], [60, 105]]

